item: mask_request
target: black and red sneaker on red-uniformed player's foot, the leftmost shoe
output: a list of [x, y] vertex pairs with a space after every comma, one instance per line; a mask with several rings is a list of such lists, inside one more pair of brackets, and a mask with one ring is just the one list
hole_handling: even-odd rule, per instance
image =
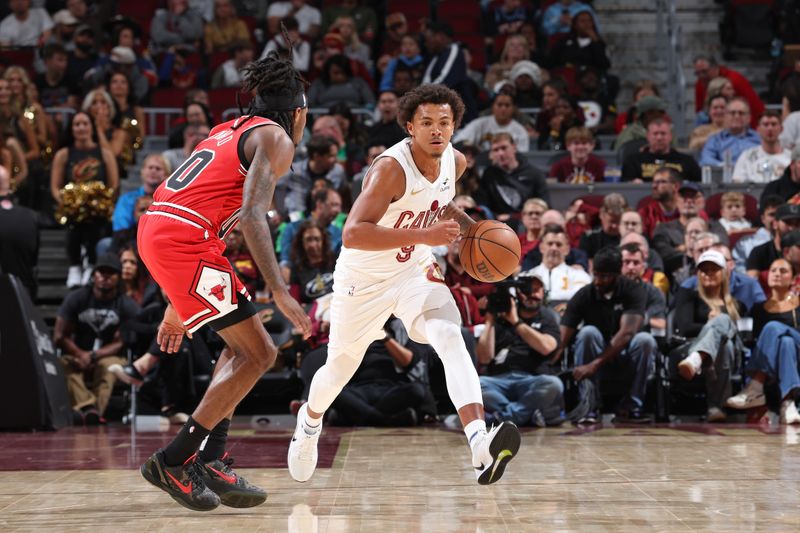
[[139, 469], [147, 481], [187, 509], [211, 511], [219, 506], [219, 496], [206, 486], [200, 470], [195, 455], [180, 466], [167, 466], [163, 450], [151, 455]]

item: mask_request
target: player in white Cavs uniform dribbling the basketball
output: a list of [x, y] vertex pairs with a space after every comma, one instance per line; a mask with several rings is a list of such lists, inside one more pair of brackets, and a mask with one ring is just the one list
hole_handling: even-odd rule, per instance
[[392, 314], [413, 340], [430, 344], [442, 359], [478, 483], [500, 479], [519, 450], [513, 423], [486, 431], [478, 373], [431, 252], [473, 223], [451, 203], [466, 168], [464, 155], [450, 144], [463, 115], [461, 98], [443, 85], [410, 91], [398, 114], [409, 138], [378, 156], [364, 179], [333, 274], [328, 359], [314, 375], [289, 445], [289, 473], [297, 481], [310, 479], [317, 466], [323, 413], [355, 373], [367, 346], [384, 337], [383, 324]]

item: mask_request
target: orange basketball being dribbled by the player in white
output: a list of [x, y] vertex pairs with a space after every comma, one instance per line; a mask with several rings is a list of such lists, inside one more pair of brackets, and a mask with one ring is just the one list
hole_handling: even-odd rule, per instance
[[459, 258], [467, 274], [478, 281], [502, 281], [519, 265], [519, 237], [502, 222], [483, 220], [462, 239]]

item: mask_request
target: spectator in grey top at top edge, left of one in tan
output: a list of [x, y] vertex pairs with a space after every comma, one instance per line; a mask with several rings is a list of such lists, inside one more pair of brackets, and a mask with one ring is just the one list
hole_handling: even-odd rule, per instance
[[189, 7], [188, 0], [167, 0], [167, 9], [159, 9], [153, 16], [150, 26], [153, 54], [178, 46], [197, 51], [202, 38], [203, 17]]

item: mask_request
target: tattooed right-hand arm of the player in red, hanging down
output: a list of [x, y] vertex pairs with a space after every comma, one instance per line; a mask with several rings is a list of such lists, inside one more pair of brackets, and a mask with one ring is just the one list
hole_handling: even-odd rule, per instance
[[291, 297], [283, 281], [267, 224], [267, 211], [272, 204], [275, 185], [292, 164], [294, 145], [279, 128], [258, 128], [245, 143], [245, 155], [251, 163], [244, 181], [239, 225], [278, 308], [303, 332], [304, 337], [308, 337], [311, 335], [311, 320]]

